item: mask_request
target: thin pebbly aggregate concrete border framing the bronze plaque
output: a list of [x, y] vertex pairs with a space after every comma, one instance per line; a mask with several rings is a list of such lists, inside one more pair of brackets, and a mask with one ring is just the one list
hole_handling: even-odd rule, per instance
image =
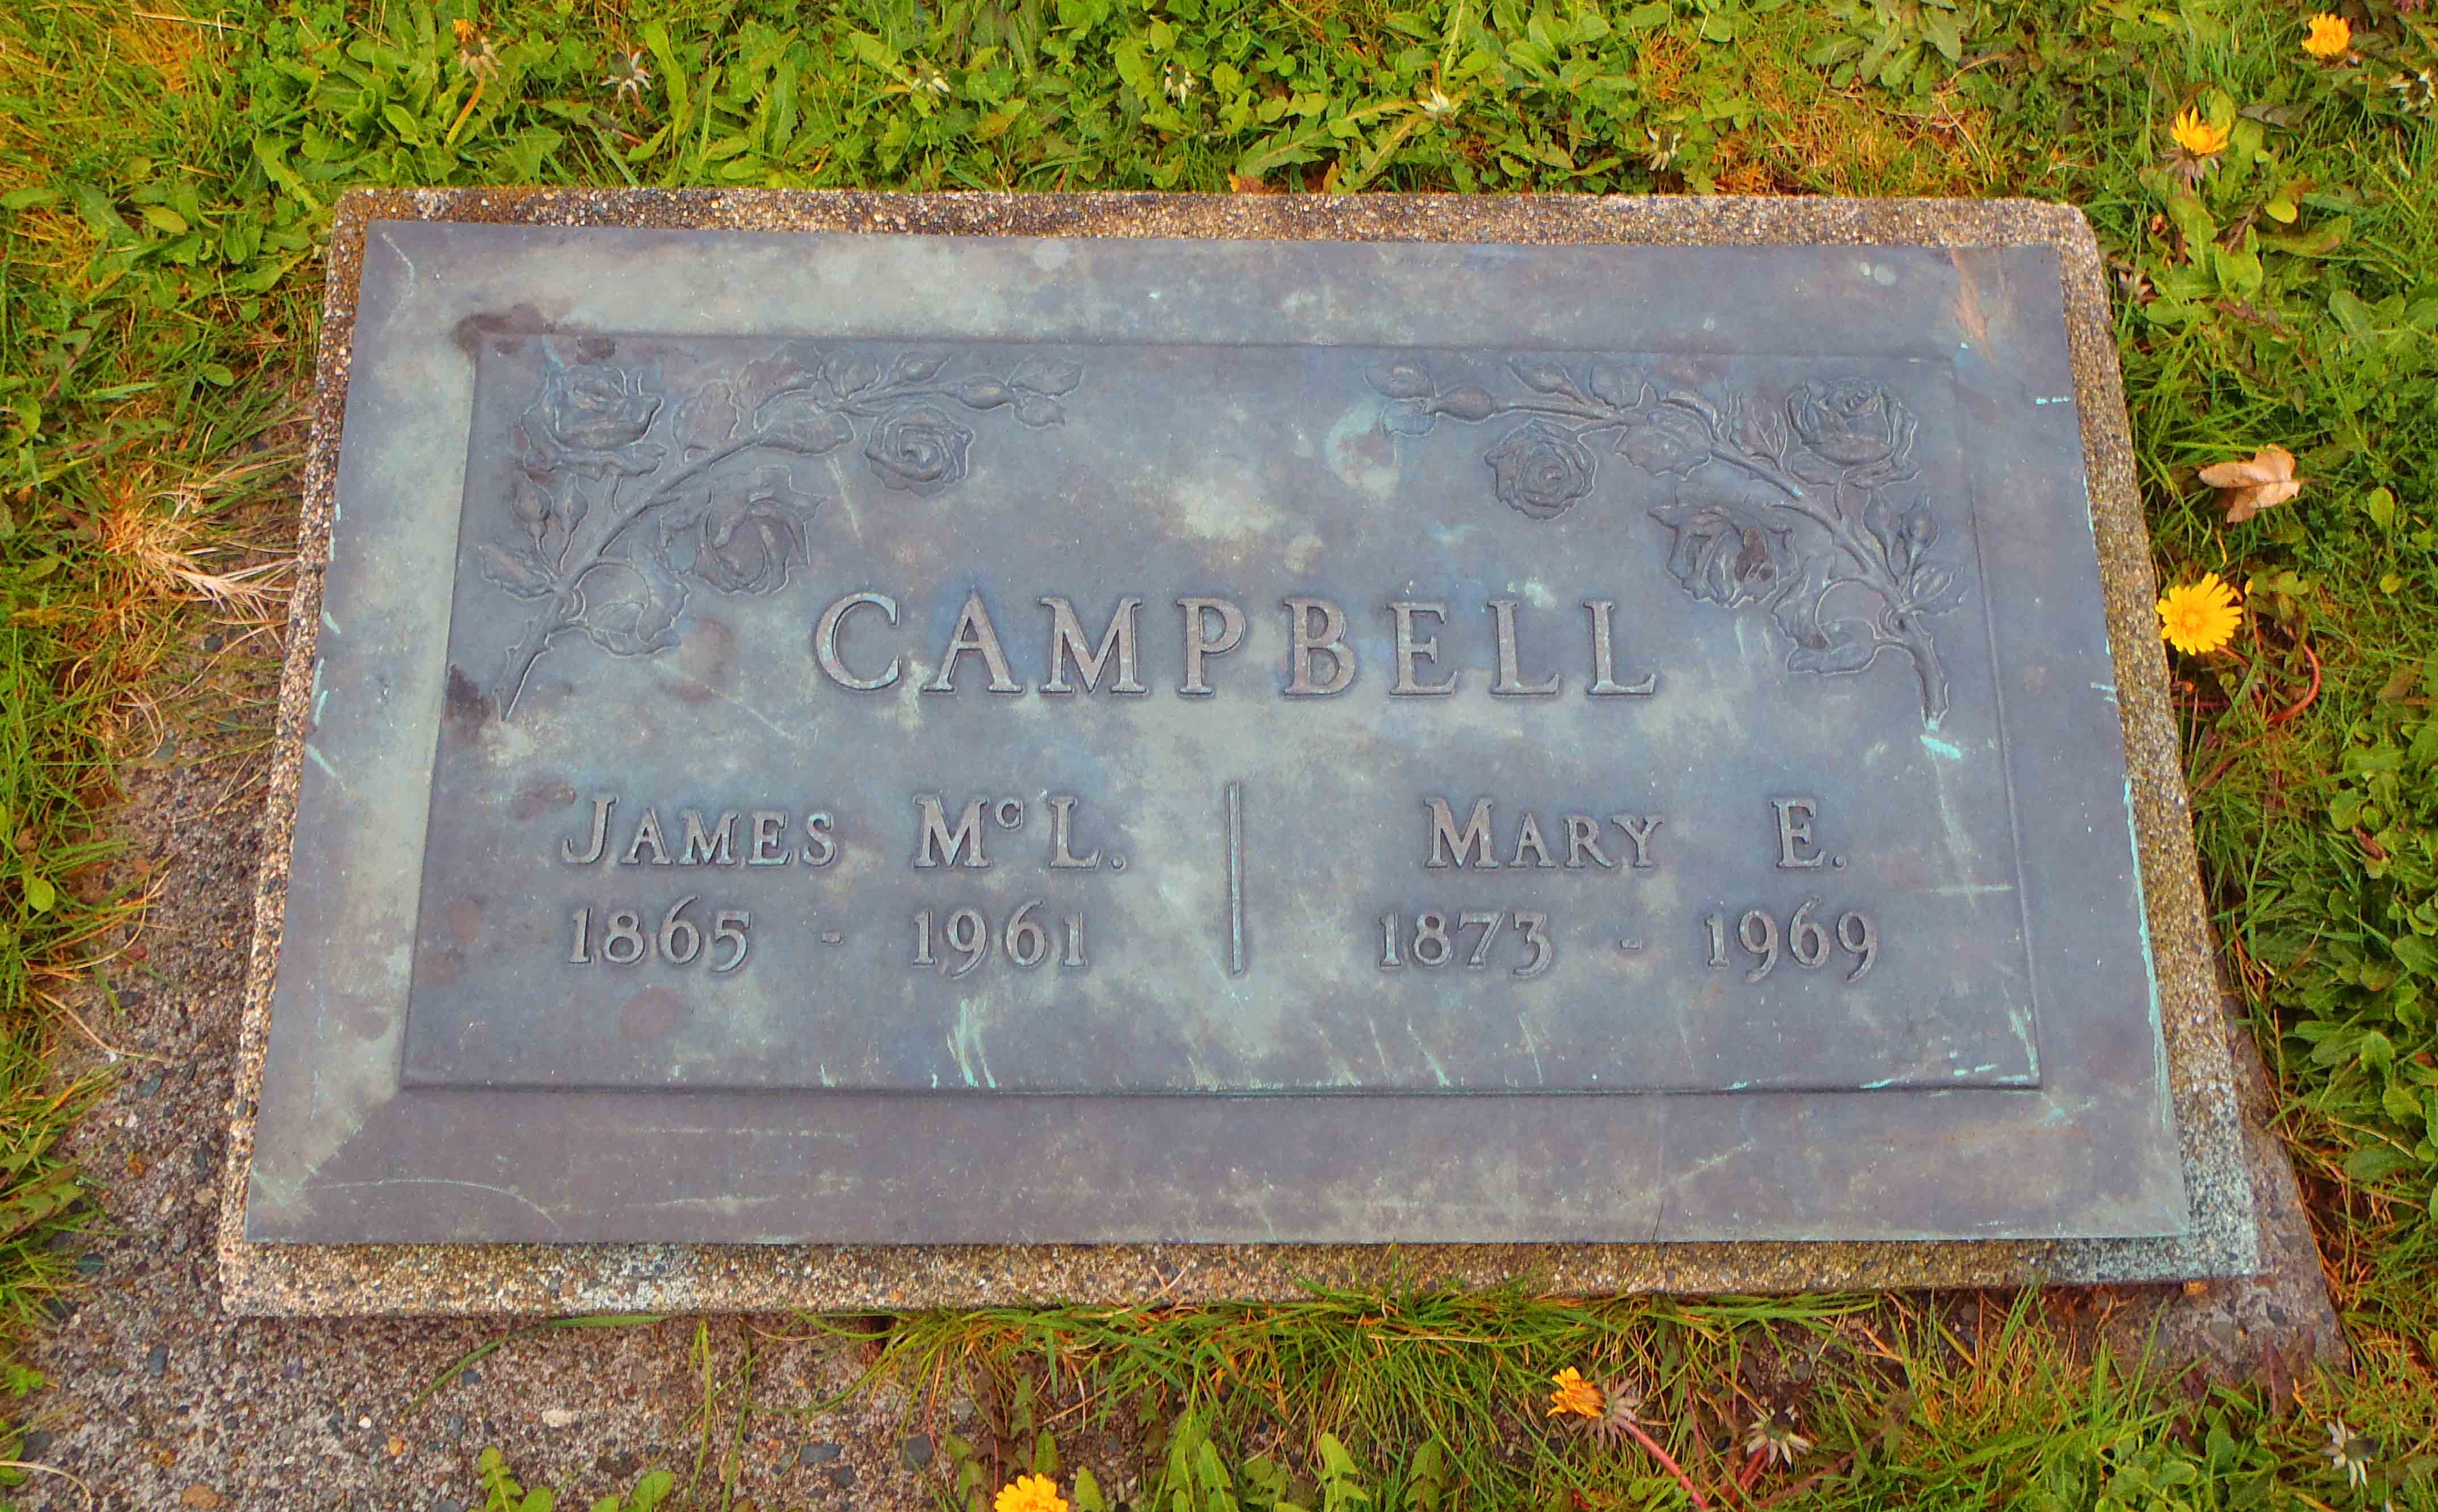
[[[244, 1239], [254, 1107], [268, 1039], [307, 727], [319, 563], [329, 556], [339, 415], [363, 234], [373, 219], [629, 224], [761, 232], [1058, 237], [1282, 237], [1621, 244], [2048, 244], [2060, 256], [2099, 571], [2116, 656], [2138, 861], [2184, 1156], [2189, 1232], [2170, 1239], [1948, 1244], [1470, 1244], [1470, 1246], [290, 1246]], [[315, 446], [305, 473], [297, 597], [288, 624], [278, 744], [246, 980], [239, 1088], [222, 1171], [219, 1268], [232, 1312], [492, 1314], [907, 1310], [1034, 1300], [1287, 1297], [1304, 1283], [1387, 1275], [1443, 1283], [1529, 1278], [1560, 1293], [1775, 1293], [2138, 1283], [2260, 1268], [2233, 1066], [2214, 975], [2167, 663], [2155, 629], [2148, 534], [2106, 307], [2080, 212], [2031, 200], [1763, 198], [1326, 198], [1326, 195], [868, 195], [797, 190], [378, 190], [336, 210], [324, 295]]]

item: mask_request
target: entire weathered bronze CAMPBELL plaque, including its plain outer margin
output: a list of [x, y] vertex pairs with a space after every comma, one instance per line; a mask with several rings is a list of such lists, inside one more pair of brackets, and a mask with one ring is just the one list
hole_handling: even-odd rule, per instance
[[2184, 1224], [2045, 246], [375, 222], [349, 383], [256, 1236]]

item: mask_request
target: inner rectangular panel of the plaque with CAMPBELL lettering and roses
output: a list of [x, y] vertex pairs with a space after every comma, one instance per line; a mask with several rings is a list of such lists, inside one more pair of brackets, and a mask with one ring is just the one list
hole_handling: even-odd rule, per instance
[[417, 1085], [2033, 1085], [1928, 361], [478, 332]]

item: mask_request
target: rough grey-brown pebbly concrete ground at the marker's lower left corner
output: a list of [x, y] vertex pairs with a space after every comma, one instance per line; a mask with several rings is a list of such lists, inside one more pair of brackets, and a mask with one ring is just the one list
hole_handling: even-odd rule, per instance
[[[256, 637], [246, 654], [263, 695], [278, 646]], [[556, 1485], [561, 1507], [624, 1492], [649, 1466], [683, 1485], [702, 1407], [692, 1319], [527, 1334], [410, 1412], [453, 1361], [519, 1319], [232, 1317], [212, 1246], [176, 1249], [173, 1234], [210, 1232], [217, 1217], [217, 1180], [195, 1178], [219, 1175], [234, 1114], [268, 724], [268, 707], [254, 707], [254, 734], [227, 739], [224, 754], [188, 744], [185, 763], [127, 773], [117, 832], [127, 866], [144, 863], [158, 883], [146, 932], [156, 988], [119, 997], [124, 1017], [107, 1032], [117, 1061], [71, 1046], [61, 1063], [63, 1078], [115, 1078], [71, 1132], [73, 1158], [100, 1178], [105, 1222], [76, 1241], [83, 1290], [34, 1339], [29, 1363], [51, 1385], [27, 1402], [22, 1446], [27, 1461], [80, 1475], [95, 1500], [51, 1475], [10, 1497], [27, 1512], [466, 1512], [480, 1505], [485, 1446], [527, 1485]], [[161, 1083], [144, 1095], [154, 1073]], [[863, 1366], [856, 1344], [797, 1339], [785, 1314], [722, 1317], [707, 1332], [717, 1383], [751, 1351], [758, 1407], [809, 1410]], [[546, 1429], [544, 1407], [578, 1422]], [[904, 1436], [924, 1429], [904, 1397], [766, 1422], [746, 1436], [739, 1500], [766, 1512], [836, 1507], [836, 1492], [797, 1468], [797, 1446], [814, 1436], [836, 1451], [824, 1468], [858, 1471], [856, 1512], [931, 1505], [926, 1483], [897, 1463]]]

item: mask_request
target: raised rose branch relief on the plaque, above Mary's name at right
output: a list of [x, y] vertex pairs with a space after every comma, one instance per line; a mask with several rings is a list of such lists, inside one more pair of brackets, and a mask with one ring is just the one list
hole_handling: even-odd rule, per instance
[[[1726, 610], [1758, 602], [1792, 641], [1789, 671], [1850, 676], [1882, 651], [1907, 656], [1921, 719], [1938, 729], [1950, 693], [1928, 617], [1953, 610], [1960, 590], [1928, 558], [1938, 539], [1928, 502], [1889, 500], [1916, 476], [1907, 466], [1916, 419], [1894, 393], [1838, 378], [1804, 383], [1780, 405], [1746, 405], [1736, 393], [1719, 402], [1660, 393], [1602, 361], [1582, 378], [1543, 358], [1514, 358], [1509, 371], [1526, 395], [1441, 385], [1414, 358], [1380, 363], [1370, 385], [1392, 400], [1387, 427], [1409, 437], [1438, 419], [1529, 415], [1482, 454], [1492, 493], [1529, 519], [1555, 519], [1590, 497], [1599, 473], [1592, 441], [1614, 439], [1643, 473], [1675, 478], [1651, 517], [1675, 532], [1668, 571], [1685, 593]], [[1877, 612], [1836, 615], [1838, 588], [1868, 593]]]

